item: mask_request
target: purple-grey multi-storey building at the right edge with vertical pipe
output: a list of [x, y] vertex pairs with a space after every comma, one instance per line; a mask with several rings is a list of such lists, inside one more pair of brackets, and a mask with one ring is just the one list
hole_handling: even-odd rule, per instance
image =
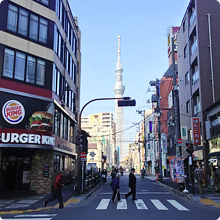
[[[183, 146], [194, 144], [193, 160], [204, 165], [206, 184], [219, 169], [219, 163], [209, 162], [220, 155], [219, 23], [219, 1], [191, 0], [177, 35], [180, 124], [186, 131]], [[185, 149], [183, 158], [188, 156]]]

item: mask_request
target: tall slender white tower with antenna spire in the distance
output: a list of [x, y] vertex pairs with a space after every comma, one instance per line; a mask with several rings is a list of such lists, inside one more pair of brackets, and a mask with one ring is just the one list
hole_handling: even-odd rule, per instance
[[[116, 66], [116, 83], [114, 86], [115, 98], [123, 98], [125, 86], [122, 84], [121, 65], [121, 36], [118, 35], [118, 61]], [[123, 107], [118, 107], [118, 100], [115, 101], [115, 125], [116, 125], [116, 148], [119, 155], [119, 163], [124, 161], [126, 156], [126, 146], [124, 139], [124, 115]], [[119, 165], [119, 164], [118, 164]]]

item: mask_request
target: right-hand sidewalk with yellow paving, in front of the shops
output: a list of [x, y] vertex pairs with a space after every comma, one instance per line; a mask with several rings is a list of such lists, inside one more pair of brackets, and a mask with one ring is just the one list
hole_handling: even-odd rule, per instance
[[170, 178], [164, 177], [163, 183], [156, 181], [156, 177], [154, 175], [148, 175], [147, 178], [153, 182], [156, 182], [157, 184], [160, 184], [161, 186], [168, 188], [179, 196], [186, 196], [190, 200], [196, 201], [200, 204], [220, 208], [220, 192], [216, 192], [213, 189], [204, 188], [203, 194], [199, 194], [198, 185], [195, 184], [195, 195], [193, 195], [192, 186], [187, 188], [189, 193], [183, 193], [181, 190], [179, 190], [179, 185], [172, 182]]

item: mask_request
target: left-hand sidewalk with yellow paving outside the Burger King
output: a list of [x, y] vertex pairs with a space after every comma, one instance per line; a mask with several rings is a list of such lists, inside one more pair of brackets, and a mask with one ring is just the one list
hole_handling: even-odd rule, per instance
[[[80, 204], [84, 200], [86, 200], [91, 194], [93, 194], [99, 187], [101, 183], [97, 184], [95, 188], [92, 190], [80, 194], [79, 196], [73, 196], [71, 193], [71, 185], [65, 186], [63, 188], [63, 202], [64, 207], [74, 206], [76, 204]], [[21, 193], [16, 193], [14, 196], [12, 193], [1, 196], [0, 198], [0, 216], [3, 214], [19, 214], [19, 213], [27, 213], [27, 212], [37, 212], [43, 210], [50, 209], [58, 209], [59, 204], [57, 200], [48, 204], [45, 208], [43, 206], [43, 201], [46, 200], [49, 194], [36, 195], [34, 193], [28, 193], [28, 195], [21, 195]]]

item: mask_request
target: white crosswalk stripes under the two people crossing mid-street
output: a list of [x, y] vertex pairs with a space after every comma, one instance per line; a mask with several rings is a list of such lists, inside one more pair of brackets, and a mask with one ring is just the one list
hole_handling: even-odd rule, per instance
[[[183, 205], [181, 205], [179, 202], [177, 202], [176, 200], [172, 200], [172, 199], [167, 199], [163, 202], [161, 202], [159, 199], [150, 199], [150, 202], [153, 204], [153, 206], [157, 209], [157, 210], [169, 210], [169, 207], [171, 205], [171, 207], [174, 207], [175, 209], [179, 210], [179, 211], [189, 211], [189, 209], [187, 209], [186, 207], [184, 207]], [[96, 207], [96, 210], [107, 210], [108, 207], [110, 206], [110, 199], [102, 199], [98, 206]], [[142, 199], [138, 199], [135, 201], [135, 206], [136, 208], [139, 209], [145, 209], [148, 210], [147, 205], [145, 204], [145, 202]], [[130, 204], [129, 204], [130, 205]], [[121, 202], [117, 202], [116, 205], [116, 209], [118, 210], [126, 210], [128, 209], [128, 202], [126, 199], [121, 199]]]

